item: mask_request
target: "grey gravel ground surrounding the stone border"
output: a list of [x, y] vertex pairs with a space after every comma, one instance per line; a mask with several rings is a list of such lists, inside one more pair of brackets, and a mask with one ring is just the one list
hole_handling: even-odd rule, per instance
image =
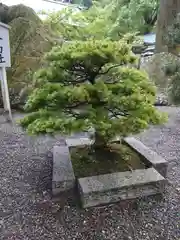
[[56, 140], [32, 138], [0, 117], [0, 239], [180, 240], [180, 108], [161, 107], [169, 122], [138, 137], [169, 161], [164, 198], [82, 210], [71, 194], [51, 199]]

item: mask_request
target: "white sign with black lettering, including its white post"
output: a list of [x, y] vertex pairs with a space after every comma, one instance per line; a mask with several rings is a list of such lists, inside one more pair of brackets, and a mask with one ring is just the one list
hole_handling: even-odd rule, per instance
[[11, 67], [11, 55], [9, 44], [10, 27], [0, 22], [0, 82], [5, 112], [9, 114], [9, 120], [12, 121], [11, 106], [9, 100], [9, 90], [7, 84], [6, 68]]

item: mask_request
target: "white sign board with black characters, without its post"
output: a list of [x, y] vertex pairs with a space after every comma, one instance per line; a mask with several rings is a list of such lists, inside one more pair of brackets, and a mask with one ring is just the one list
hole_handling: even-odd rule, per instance
[[9, 26], [0, 22], [0, 68], [11, 67]]

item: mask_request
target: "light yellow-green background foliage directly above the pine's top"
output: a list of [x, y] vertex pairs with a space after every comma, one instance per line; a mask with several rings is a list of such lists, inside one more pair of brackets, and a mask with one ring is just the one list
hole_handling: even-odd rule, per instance
[[75, 11], [65, 8], [58, 12], [44, 13], [45, 23], [50, 25], [54, 34], [64, 40], [104, 39], [107, 37], [111, 20], [107, 17], [107, 7], [94, 4], [89, 10]]

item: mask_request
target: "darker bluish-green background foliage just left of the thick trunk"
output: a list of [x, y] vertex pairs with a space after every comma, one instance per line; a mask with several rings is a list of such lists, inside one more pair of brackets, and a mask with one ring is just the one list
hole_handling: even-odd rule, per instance
[[158, 0], [114, 1], [114, 16], [110, 34], [116, 39], [127, 32], [151, 32], [157, 20]]

